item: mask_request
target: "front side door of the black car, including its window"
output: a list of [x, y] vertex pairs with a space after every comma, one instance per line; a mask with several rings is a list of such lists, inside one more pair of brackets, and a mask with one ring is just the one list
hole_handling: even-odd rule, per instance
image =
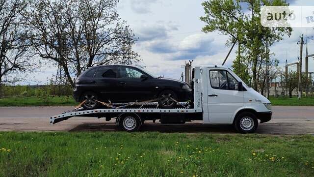
[[119, 66], [119, 91], [125, 102], [145, 101], [154, 98], [152, 79], [141, 78], [143, 71], [131, 66]]

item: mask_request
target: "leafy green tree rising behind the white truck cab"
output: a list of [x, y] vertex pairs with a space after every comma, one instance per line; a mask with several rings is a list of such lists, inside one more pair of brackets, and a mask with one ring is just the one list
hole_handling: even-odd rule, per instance
[[[240, 61], [241, 48], [248, 49], [244, 58], [248, 70], [252, 71], [253, 88], [258, 90], [258, 71], [262, 62], [269, 58], [264, 53], [266, 43], [273, 45], [290, 35], [291, 28], [265, 28], [261, 25], [260, 11], [262, 5], [288, 5], [285, 0], [208, 0], [202, 3], [205, 16], [200, 19], [206, 23], [204, 32], [220, 31], [232, 41], [238, 42], [238, 59]], [[249, 13], [244, 13], [242, 6], [246, 5]], [[245, 63], [244, 62], [244, 63]], [[240, 65], [240, 64], [239, 64]], [[248, 72], [249, 73], [249, 72]]]

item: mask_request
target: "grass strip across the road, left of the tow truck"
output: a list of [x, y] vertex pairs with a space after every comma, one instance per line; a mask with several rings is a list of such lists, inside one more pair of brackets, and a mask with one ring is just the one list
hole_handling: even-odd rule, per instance
[[78, 105], [72, 96], [55, 96], [44, 98], [37, 97], [14, 97], [1, 98], [0, 106], [74, 106]]

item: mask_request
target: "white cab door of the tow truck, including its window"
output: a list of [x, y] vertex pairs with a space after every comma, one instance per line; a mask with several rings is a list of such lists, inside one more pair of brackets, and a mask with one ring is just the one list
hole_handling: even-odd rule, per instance
[[244, 106], [238, 81], [226, 69], [207, 68], [207, 76], [209, 123], [232, 123], [235, 111]]

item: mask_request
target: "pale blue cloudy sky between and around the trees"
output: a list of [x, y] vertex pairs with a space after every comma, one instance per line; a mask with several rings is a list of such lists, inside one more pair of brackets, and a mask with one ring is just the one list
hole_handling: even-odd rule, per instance
[[[194, 60], [195, 65], [221, 64], [230, 47], [226, 47], [227, 36], [219, 32], [205, 34], [201, 31], [205, 24], [199, 19], [204, 15], [201, 5], [204, 0], [120, 0], [118, 13], [126, 20], [139, 40], [134, 50], [141, 56], [142, 65], [156, 75], [179, 79], [185, 61]], [[290, 5], [314, 5], [312, 0], [288, 0]], [[314, 36], [313, 28], [294, 28], [290, 38], [271, 46], [274, 58], [284, 66], [297, 61], [299, 47], [296, 44], [301, 34]], [[235, 47], [236, 49], [236, 47]], [[305, 51], [305, 48], [304, 48]], [[309, 41], [309, 53], [314, 53], [314, 41]], [[304, 52], [305, 53], [305, 52]], [[305, 57], [304, 57], [305, 58]], [[235, 59], [235, 50], [227, 60], [231, 66]], [[304, 70], [303, 62], [303, 70]], [[309, 62], [310, 71], [314, 71], [314, 59]], [[54, 67], [42, 69], [31, 74], [42, 83], [47, 83], [56, 72]], [[27, 84], [27, 80], [22, 84]], [[28, 81], [29, 83], [29, 81]]]

